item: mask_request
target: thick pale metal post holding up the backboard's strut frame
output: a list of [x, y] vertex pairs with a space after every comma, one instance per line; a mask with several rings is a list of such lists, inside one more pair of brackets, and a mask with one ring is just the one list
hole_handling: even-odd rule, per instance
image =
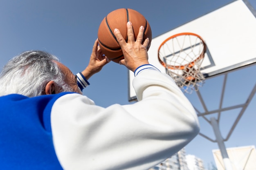
[[233, 170], [231, 166], [231, 161], [229, 160], [229, 156], [227, 155], [226, 146], [224, 144], [224, 139], [220, 134], [220, 128], [218, 122], [216, 121], [215, 117], [211, 117], [211, 125], [213, 127], [213, 131], [216, 136], [216, 141], [218, 142], [218, 146], [220, 148], [220, 152], [222, 155], [223, 163], [225, 166], [225, 170]]

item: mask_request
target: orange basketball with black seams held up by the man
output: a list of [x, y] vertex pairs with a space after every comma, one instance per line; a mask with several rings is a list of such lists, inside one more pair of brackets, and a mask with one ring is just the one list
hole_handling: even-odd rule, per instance
[[98, 40], [101, 51], [113, 62], [119, 63], [119, 60], [124, 59], [121, 47], [115, 37], [114, 29], [119, 29], [121, 35], [127, 42], [126, 24], [128, 21], [132, 22], [135, 40], [139, 33], [139, 27], [144, 26], [143, 42], [146, 38], [149, 38], [147, 50], [150, 47], [152, 32], [146, 18], [141, 13], [133, 9], [116, 9], [115, 11], [108, 13], [108, 15], [102, 20], [98, 30]]

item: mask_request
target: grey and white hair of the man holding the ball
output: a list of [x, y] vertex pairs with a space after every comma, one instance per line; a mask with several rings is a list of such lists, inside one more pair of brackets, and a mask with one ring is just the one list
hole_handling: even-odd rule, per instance
[[25, 51], [11, 59], [0, 73], [0, 96], [21, 94], [28, 97], [42, 95], [49, 81], [62, 91], [73, 89], [64, 82], [64, 75], [56, 64], [58, 57], [45, 51]]

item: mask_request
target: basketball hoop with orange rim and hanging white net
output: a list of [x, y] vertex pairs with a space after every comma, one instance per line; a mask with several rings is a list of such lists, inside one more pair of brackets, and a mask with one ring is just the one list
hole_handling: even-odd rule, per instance
[[158, 49], [158, 60], [177, 86], [186, 93], [192, 93], [204, 82], [200, 66], [205, 52], [206, 44], [199, 35], [179, 33], [162, 42]]

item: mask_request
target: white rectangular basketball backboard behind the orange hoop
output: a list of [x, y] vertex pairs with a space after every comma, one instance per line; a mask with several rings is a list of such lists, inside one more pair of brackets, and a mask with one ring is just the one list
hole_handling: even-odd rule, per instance
[[[256, 11], [246, 0], [231, 2], [153, 38], [148, 51], [150, 64], [166, 72], [158, 61], [158, 48], [167, 38], [183, 32], [198, 34], [206, 42], [207, 51], [201, 65], [205, 78], [256, 63]], [[137, 99], [133, 78], [134, 74], [129, 71], [129, 101]]]

